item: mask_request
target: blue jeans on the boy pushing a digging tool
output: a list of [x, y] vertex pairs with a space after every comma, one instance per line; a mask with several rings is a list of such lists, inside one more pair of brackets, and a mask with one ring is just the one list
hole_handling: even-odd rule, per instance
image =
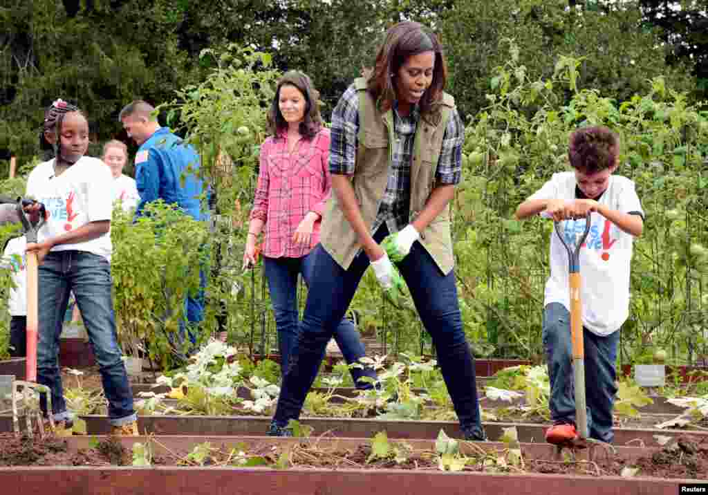
[[[543, 313], [543, 346], [551, 380], [550, 409], [554, 422], [575, 424], [573, 352], [571, 319], [568, 309], [558, 302], [547, 305]], [[583, 331], [585, 346], [585, 394], [590, 438], [611, 443], [612, 406], [617, 394], [617, 344], [619, 330], [601, 337]]]

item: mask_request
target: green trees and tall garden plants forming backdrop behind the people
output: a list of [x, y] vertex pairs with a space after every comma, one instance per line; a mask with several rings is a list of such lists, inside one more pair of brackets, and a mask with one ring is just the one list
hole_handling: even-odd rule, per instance
[[[700, 16], [704, 3], [682, 2], [682, 12]], [[656, 2], [8, 0], [0, 7], [0, 177], [10, 154], [25, 171], [36, 162], [42, 109], [57, 97], [88, 113], [94, 156], [105, 140], [127, 142], [117, 120], [125, 103], [161, 105], [163, 123], [198, 147], [200, 173], [217, 193], [201, 337], [226, 329], [239, 345], [267, 352], [275, 347], [267, 287], [261, 271], [241, 273], [240, 266], [275, 79], [286, 69], [307, 72], [327, 117], [371, 64], [385, 28], [422, 21], [445, 45], [448, 89], [468, 123], [454, 240], [465, 331], [476, 352], [539, 358], [550, 225], [510, 218], [564, 169], [569, 131], [604, 123], [622, 135], [619, 173], [636, 181], [647, 212], [622, 358], [644, 362], [652, 346], [666, 346], [677, 361], [695, 360], [707, 353], [708, 331], [705, 45], [694, 36], [699, 52], [680, 56], [684, 38], [672, 31], [675, 24], [658, 22], [661, 9], [650, 4]], [[22, 179], [0, 188], [21, 191]], [[133, 318], [130, 331], [152, 336], [156, 358], [169, 353], [160, 335], [174, 326], [158, 313], [175, 294], [193, 290], [195, 278], [193, 271], [186, 284], [164, 277], [159, 287], [157, 278], [139, 273], [135, 253], [150, 253], [151, 266], [175, 275], [193, 268], [193, 241], [204, 234], [176, 219], [169, 225], [170, 242], [184, 243], [176, 264], [154, 226], [131, 228], [117, 217], [113, 231], [130, 246], [113, 260], [118, 319]], [[0, 282], [1, 305], [7, 285]], [[302, 304], [304, 290], [299, 296]], [[142, 309], [131, 315], [130, 302], [138, 300]], [[159, 311], [151, 307], [158, 300]], [[362, 332], [387, 350], [431, 351], [410, 298], [394, 305], [371, 273], [352, 309]]]

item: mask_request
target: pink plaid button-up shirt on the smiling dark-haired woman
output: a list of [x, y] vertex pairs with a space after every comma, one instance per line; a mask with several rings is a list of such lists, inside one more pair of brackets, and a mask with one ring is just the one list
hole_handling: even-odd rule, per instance
[[[258, 187], [251, 219], [265, 222], [263, 256], [299, 258], [319, 242], [319, 228], [332, 181], [329, 176], [329, 129], [311, 140], [300, 139], [292, 154], [285, 134], [268, 137], [261, 145]], [[307, 212], [316, 212], [310, 244], [295, 244], [292, 235]]]

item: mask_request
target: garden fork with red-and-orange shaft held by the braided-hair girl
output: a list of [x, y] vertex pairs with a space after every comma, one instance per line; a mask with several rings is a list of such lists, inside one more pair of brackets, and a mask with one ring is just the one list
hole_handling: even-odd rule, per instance
[[[45, 222], [45, 209], [44, 205], [39, 211], [39, 220], [36, 224], [30, 222], [28, 216], [25, 215], [23, 211], [23, 206], [32, 205], [35, 203], [32, 200], [22, 200], [19, 198], [16, 201], [9, 200], [9, 198], [1, 198], [0, 203], [5, 203], [1, 205], [6, 209], [6, 205], [10, 202], [16, 203], [16, 217], [22, 224], [23, 232], [27, 239], [28, 244], [30, 242], [37, 242], [37, 235], [40, 227]], [[8, 212], [6, 212], [8, 213]], [[12, 215], [6, 215], [8, 219], [12, 218]], [[32, 416], [37, 417], [38, 429], [40, 432], [40, 437], [45, 437], [44, 421], [42, 419], [42, 412], [34, 407], [35, 394], [37, 392], [47, 394], [47, 411], [50, 428], [54, 429], [54, 419], [52, 418], [52, 397], [50, 394], [50, 389], [46, 385], [40, 385], [37, 383], [37, 341], [38, 341], [38, 291], [37, 291], [37, 271], [38, 271], [38, 259], [37, 253], [31, 252], [27, 253], [27, 357], [25, 359], [25, 380], [14, 380], [12, 384], [12, 425], [16, 436], [21, 435], [20, 431], [20, 419], [18, 411], [22, 410], [25, 414], [25, 423], [27, 426], [27, 436], [30, 438], [34, 436], [32, 428]]]

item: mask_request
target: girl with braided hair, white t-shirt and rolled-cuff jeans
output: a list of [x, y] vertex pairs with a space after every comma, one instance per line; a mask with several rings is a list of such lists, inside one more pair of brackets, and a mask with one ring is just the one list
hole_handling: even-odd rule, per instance
[[[46, 141], [46, 143], [44, 142]], [[45, 206], [38, 242], [28, 243], [39, 261], [39, 341], [37, 380], [52, 393], [52, 415], [64, 428], [72, 415], [64, 402], [59, 373], [59, 334], [74, 293], [96, 356], [114, 435], [137, 435], [132, 390], [115, 331], [110, 278], [110, 217], [113, 177], [96, 158], [86, 157], [89, 123], [75, 106], [62, 100], [45, 112], [42, 146], [55, 155], [30, 172], [27, 195]], [[36, 217], [39, 205], [25, 207]], [[42, 397], [44, 399], [44, 397]], [[46, 412], [46, 402], [42, 400]]]

